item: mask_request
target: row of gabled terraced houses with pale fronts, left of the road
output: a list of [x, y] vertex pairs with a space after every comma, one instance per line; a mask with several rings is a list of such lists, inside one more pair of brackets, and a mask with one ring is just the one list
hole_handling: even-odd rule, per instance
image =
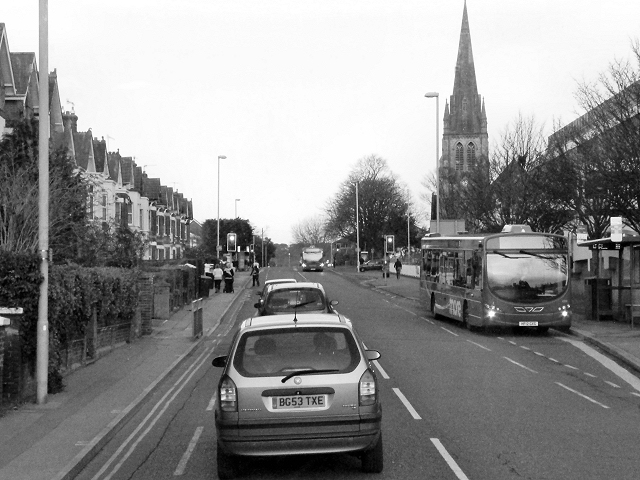
[[[38, 79], [33, 52], [11, 52], [5, 24], [0, 23], [0, 132], [7, 122], [37, 118]], [[49, 74], [50, 135], [64, 147], [90, 183], [87, 217], [102, 225], [122, 225], [141, 232], [147, 240], [145, 260], [181, 258], [192, 243], [192, 201], [182, 193], [149, 178], [131, 156], [109, 151], [104, 137], [91, 129], [78, 131], [75, 111], [65, 111], [60, 101], [58, 76]]]

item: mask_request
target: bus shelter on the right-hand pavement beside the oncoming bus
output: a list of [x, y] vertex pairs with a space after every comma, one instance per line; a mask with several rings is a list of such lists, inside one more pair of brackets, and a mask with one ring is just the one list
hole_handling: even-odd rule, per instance
[[[602, 251], [615, 250], [618, 252], [617, 285], [611, 284], [610, 279], [588, 278], [587, 288], [587, 315], [601, 320], [603, 317], [613, 317], [625, 320], [634, 327], [634, 316], [640, 317], [640, 235], [632, 233], [622, 234], [622, 241], [613, 241], [611, 237], [603, 237], [595, 240], [578, 242], [579, 247], [589, 247], [589, 250], [597, 252], [597, 262], [600, 265]], [[629, 251], [629, 280], [625, 285], [624, 278], [624, 252]], [[613, 296], [616, 295], [616, 308], [612, 307]]]

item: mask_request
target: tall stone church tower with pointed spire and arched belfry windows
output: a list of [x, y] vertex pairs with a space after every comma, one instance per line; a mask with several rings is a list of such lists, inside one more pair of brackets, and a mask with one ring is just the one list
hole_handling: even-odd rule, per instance
[[[489, 136], [484, 100], [478, 94], [471, 49], [467, 2], [462, 13], [460, 44], [453, 82], [453, 95], [445, 104], [442, 133], [442, 174], [464, 185], [465, 172], [485, 167], [489, 158]], [[445, 186], [443, 194], [446, 194]]]

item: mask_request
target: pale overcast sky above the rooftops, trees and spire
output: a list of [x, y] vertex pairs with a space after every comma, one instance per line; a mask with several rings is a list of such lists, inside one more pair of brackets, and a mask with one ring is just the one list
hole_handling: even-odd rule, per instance
[[[276, 243], [376, 154], [412, 194], [434, 171], [464, 0], [49, 0], [49, 70], [79, 130]], [[519, 112], [551, 133], [574, 93], [640, 37], [638, 0], [468, 0], [490, 144]], [[0, 0], [12, 52], [36, 52], [38, 1]], [[72, 102], [66, 104], [66, 102]], [[440, 123], [442, 127], [442, 123]], [[442, 128], [440, 128], [442, 133]], [[109, 138], [107, 138], [109, 137]], [[236, 202], [236, 199], [240, 199]]]

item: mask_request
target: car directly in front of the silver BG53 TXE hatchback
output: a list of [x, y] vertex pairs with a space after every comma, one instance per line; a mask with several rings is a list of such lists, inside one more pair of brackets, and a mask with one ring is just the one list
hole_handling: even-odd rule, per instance
[[337, 300], [329, 301], [320, 283], [296, 282], [271, 285], [254, 307], [258, 315], [283, 315], [333, 313], [337, 304]]

